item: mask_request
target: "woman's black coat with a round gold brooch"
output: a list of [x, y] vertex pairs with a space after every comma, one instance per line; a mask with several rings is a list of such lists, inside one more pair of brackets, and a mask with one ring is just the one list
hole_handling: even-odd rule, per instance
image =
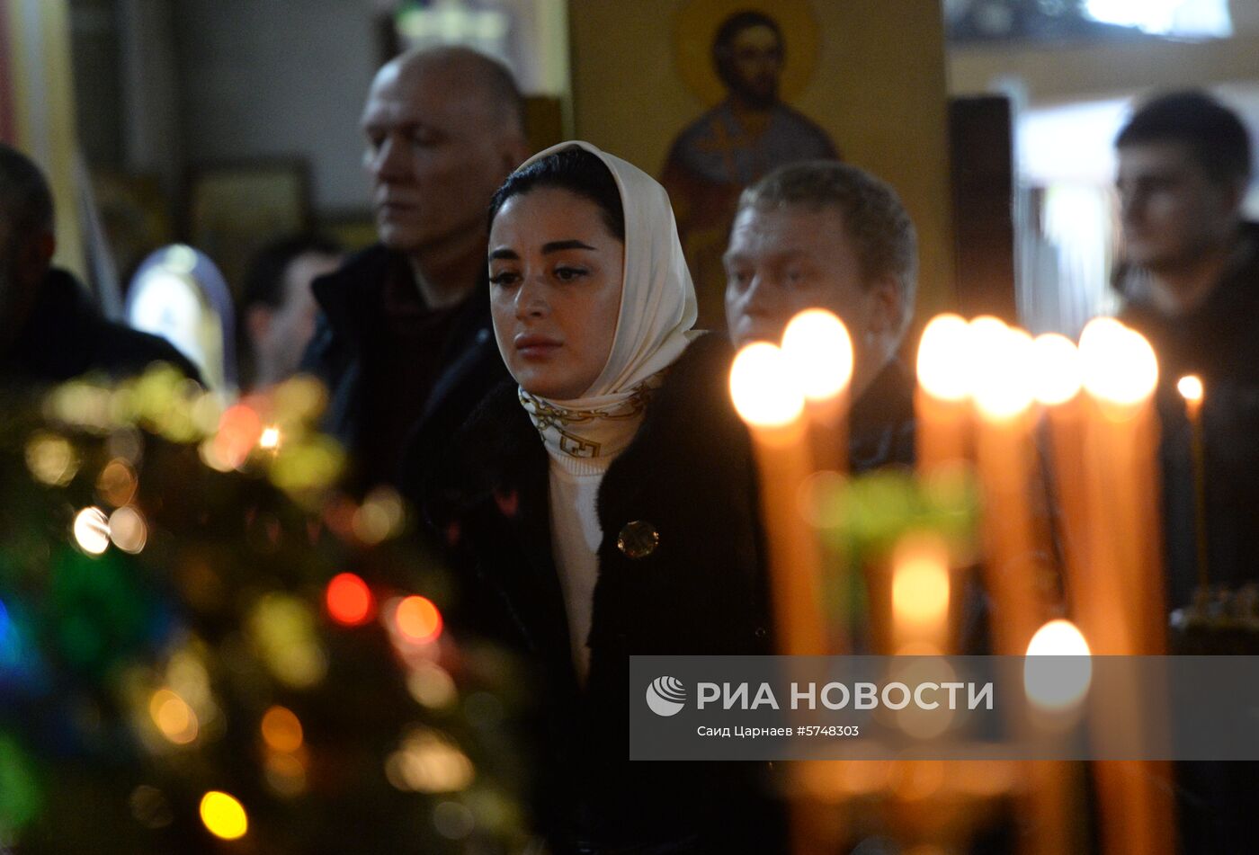
[[[728, 398], [730, 359], [720, 336], [694, 341], [603, 478], [584, 690], [551, 555], [549, 458], [515, 385], [472, 416], [429, 499], [475, 579], [463, 617], [539, 665], [539, 810], [558, 851], [582, 851], [574, 841], [593, 841], [584, 851], [782, 849], [778, 812], [760, 796], [763, 764], [628, 761], [631, 655], [772, 652], [754, 461]], [[648, 526], [658, 541], [642, 554]]]

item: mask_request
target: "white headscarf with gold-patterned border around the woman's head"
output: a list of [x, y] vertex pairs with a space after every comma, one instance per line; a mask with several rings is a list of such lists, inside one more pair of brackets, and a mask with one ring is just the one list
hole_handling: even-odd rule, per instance
[[520, 402], [551, 456], [608, 457], [633, 439], [661, 371], [697, 335], [691, 330], [697, 312], [695, 286], [669, 194], [645, 171], [579, 140], [539, 151], [520, 169], [572, 147], [602, 160], [621, 191], [626, 220], [621, 310], [608, 361], [580, 398], [550, 400], [521, 389]]

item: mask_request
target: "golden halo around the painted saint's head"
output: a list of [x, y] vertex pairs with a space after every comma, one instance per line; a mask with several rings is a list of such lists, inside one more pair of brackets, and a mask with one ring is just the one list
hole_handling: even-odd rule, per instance
[[674, 18], [677, 73], [705, 105], [725, 98], [725, 86], [713, 68], [713, 37], [721, 21], [740, 11], [759, 11], [778, 21], [787, 50], [778, 97], [794, 99], [817, 67], [817, 19], [806, 0], [687, 0]]

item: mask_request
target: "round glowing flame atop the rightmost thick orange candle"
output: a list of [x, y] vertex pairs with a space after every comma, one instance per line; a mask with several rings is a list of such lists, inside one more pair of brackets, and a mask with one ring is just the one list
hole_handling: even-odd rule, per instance
[[1158, 359], [1139, 332], [1113, 317], [1095, 317], [1080, 334], [1084, 388], [1121, 405], [1141, 403], [1158, 385]]

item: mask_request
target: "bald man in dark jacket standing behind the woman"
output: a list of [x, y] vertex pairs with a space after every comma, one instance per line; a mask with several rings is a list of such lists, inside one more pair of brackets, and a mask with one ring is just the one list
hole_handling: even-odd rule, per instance
[[331, 390], [326, 429], [361, 486], [418, 495], [449, 434], [506, 377], [490, 329], [486, 209], [528, 155], [510, 72], [466, 48], [412, 52], [363, 110], [380, 242], [316, 280], [303, 368]]

